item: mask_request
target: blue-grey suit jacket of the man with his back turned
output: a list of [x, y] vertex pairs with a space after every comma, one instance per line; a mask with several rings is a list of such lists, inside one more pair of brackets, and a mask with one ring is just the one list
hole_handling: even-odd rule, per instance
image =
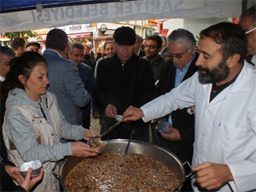
[[90, 102], [90, 95], [84, 89], [79, 70], [73, 61], [58, 55], [54, 50], [44, 50], [49, 73], [48, 90], [55, 94], [61, 112], [68, 123], [82, 125], [81, 109]]

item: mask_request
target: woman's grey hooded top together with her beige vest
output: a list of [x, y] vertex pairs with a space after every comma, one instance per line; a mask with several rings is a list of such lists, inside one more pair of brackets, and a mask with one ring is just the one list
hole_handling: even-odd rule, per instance
[[25, 90], [10, 90], [3, 122], [3, 139], [9, 160], [15, 166], [30, 160], [43, 162], [44, 179], [36, 190], [55, 191], [58, 182], [51, 173], [53, 162], [73, 154], [71, 143], [60, 143], [61, 137], [82, 139], [84, 128], [67, 123], [53, 94], [48, 92], [41, 98], [44, 113], [39, 103], [28, 97]]

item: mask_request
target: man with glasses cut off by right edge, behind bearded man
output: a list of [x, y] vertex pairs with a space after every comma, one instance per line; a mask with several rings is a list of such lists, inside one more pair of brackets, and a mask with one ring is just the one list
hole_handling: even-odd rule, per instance
[[256, 5], [241, 14], [239, 25], [247, 35], [246, 61], [256, 67]]

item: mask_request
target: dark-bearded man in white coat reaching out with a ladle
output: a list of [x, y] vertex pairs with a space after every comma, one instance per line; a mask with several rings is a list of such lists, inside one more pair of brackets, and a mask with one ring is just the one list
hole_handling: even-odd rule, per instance
[[218, 23], [201, 31], [198, 50], [197, 73], [123, 118], [147, 122], [195, 105], [194, 191], [255, 191], [256, 69], [244, 61], [246, 35]]

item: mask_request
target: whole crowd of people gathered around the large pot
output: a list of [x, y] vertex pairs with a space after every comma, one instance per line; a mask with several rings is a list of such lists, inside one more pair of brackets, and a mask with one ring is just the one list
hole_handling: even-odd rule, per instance
[[[239, 24], [222, 22], [194, 35], [141, 38], [128, 26], [100, 44], [71, 42], [61, 29], [40, 44], [15, 38], [1, 46], [1, 191], [60, 191], [55, 162], [93, 157], [90, 117], [104, 140], [132, 139], [166, 148], [195, 172], [182, 191], [256, 189], [256, 6]], [[160, 131], [160, 119], [168, 133]], [[19, 166], [41, 160], [22, 177]], [[16, 183], [14, 183], [14, 181]], [[18, 185], [17, 185], [18, 184]]]

